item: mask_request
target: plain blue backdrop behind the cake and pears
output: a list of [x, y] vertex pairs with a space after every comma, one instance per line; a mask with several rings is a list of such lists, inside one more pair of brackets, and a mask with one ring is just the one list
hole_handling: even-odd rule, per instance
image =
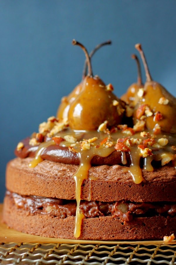
[[175, 14], [175, 0], [0, 1], [0, 201], [16, 144], [55, 115], [81, 81], [85, 57], [72, 39], [89, 52], [112, 40], [92, 64], [118, 96], [136, 81], [130, 56], [141, 42], [153, 79], [176, 95]]

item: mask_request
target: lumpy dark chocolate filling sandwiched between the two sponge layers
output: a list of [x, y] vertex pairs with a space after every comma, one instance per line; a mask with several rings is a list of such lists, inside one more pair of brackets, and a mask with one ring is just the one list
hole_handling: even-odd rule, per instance
[[[21, 196], [10, 191], [6, 196], [13, 200], [17, 208], [23, 208], [31, 214], [50, 214], [58, 218], [75, 216], [76, 201], [63, 200], [57, 198], [46, 198], [41, 196]], [[114, 216], [121, 219], [122, 222], [130, 222], [134, 217], [141, 216], [175, 216], [176, 203], [158, 202], [158, 203], [136, 203], [130, 201], [118, 202], [100, 202], [100, 201], [81, 201], [80, 211], [86, 218], [99, 216]]]

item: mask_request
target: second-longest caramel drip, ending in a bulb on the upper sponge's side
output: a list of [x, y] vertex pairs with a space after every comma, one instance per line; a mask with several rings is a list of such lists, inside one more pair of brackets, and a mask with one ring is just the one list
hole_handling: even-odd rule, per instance
[[139, 184], [144, 179], [142, 176], [142, 170], [140, 168], [140, 151], [136, 148], [136, 146], [131, 148], [130, 157], [131, 165], [128, 172], [131, 174], [134, 183]]

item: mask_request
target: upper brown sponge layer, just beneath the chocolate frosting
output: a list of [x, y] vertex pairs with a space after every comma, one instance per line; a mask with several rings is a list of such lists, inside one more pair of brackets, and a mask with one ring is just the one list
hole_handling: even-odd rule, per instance
[[[77, 165], [44, 160], [29, 168], [32, 158], [15, 158], [7, 165], [6, 188], [21, 195], [36, 195], [62, 199], [75, 199], [75, 181], [72, 175]], [[91, 167], [84, 180], [81, 199], [87, 200], [91, 190], [92, 201], [176, 201], [176, 169], [164, 166], [153, 172], [143, 170], [145, 182], [135, 184], [127, 167], [102, 165]], [[103, 191], [103, 192], [102, 192]]]

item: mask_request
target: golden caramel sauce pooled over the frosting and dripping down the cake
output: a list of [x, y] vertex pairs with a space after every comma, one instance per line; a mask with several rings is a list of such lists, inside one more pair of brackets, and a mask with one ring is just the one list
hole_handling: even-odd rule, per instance
[[[153, 132], [151, 131], [151, 134]], [[111, 133], [110, 136], [104, 132], [99, 131], [77, 131], [77, 130], [71, 130], [69, 127], [66, 130], [63, 130], [56, 134], [57, 136], [60, 136], [64, 138], [66, 135], [72, 135], [76, 140], [76, 142], [73, 144], [73, 151], [78, 153], [80, 165], [77, 170], [77, 172], [73, 175], [73, 178], [75, 180], [75, 198], [77, 202], [77, 208], [76, 208], [76, 216], [75, 216], [75, 231], [74, 236], [75, 238], [78, 238], [81, 233], [81, 224], [82, 219], [84, 218], [84, 214], [80, 211], [80, 201], [81, 201], [81, 187], [82, 183], [85, 179], [88, 179], [89, 169], [91, 168], [91, 160], [94, 156], [100, 156], [100, 157], [107, 157], [112, 152], [115, 151], [114, 147], [117, 143], [117, 140], [120, 138], [126, 138], [126, 134], [122, 133], [120, 130], [117, 132]], [[85, 149], [82, 147], [82, 141], [85, 139], [91, 139], [97, 137], [92, 143], [89, 143], [89, 148]], [[109, 138], [108, 138], [109, 137]], [[169, 140], [168, 145], [166, 146], [160, 146], [160, 148], [151, 148], [153, 155], [147, 156], [144, 158], [144, 169], [147, 171], [153, 171], [153, 167], [151, 165], [151, 162], [153, 160], [162, 161], [162, 165], [165, 165], [168, 163], [169, 160], [173, 160], [175, 162], [175, 155], [174, 155], [174, 149], [171, 148], [172, 145], [175, 145], [176, 139], [174, 135], [166, 134], [164, 137], [166, 137]], [[140, 132], [135, 133], [135, 135], [129, 136], [130, 138], [137, 138], [137, 139], [146, 139], [142, 138], [140, 135]], [[158, 139], [163, 138], [162, 134], [155, 136], [155, 142], [157, 143]], [[108, 140], [109, 139], [109, 140]], [[110, 141], [111, 145], [110, 147], [106, 145]], [[43, 159], [40, 157], [42, 151], [47, 148], [50, 145], [55, 145], [55, 142], [53, 140], [41, 143], [38, 147], [38, 150], [36, 151], [35, 158], [30, 163], [30, 167], [35, 167], [38, 163], [43, 161]], [[62, 141], [60, 143], [60, 146], [69, 147], [72, 143], [69, 143], [67, 141]], [[130, 167], [126, 168], [126, 172], [128, 171], [134, 183], [139, 184], [144, 179], [142, 176], [142, 169], [140, 167], [140, 161], [141, 161], [141, 154], [140, 150], [138, 149], [137, 145], [132, 145], [129, 147], [130, 151], [128, 152], [131, 157], [131, 165]], [[126, 153], [121, 152], [121, 164], [126, 165]], [[90, 179], [90, 186], [89, 186], [89, 197], [88, 201], [91, 201], [91, 181], [94, 180], [94, 177], [89, 177]]]

